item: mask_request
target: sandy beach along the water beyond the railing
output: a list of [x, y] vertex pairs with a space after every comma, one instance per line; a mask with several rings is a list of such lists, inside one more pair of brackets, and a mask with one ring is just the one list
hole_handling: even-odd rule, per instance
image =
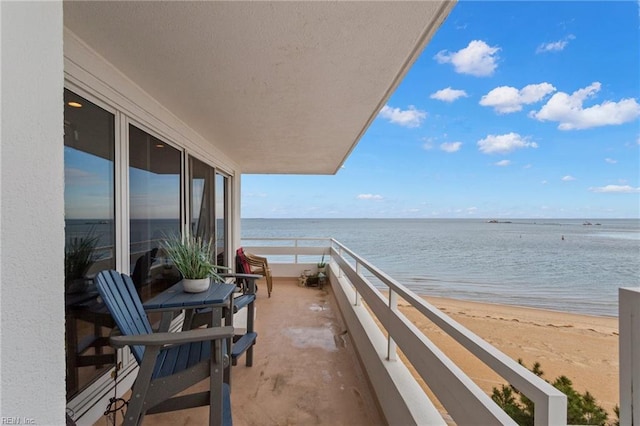
[[[526, 366], [541, 364], [544, 378], [565, 375], [579, 392], [588, 390], [614, 418], [618, 404], [618, 319], [508, 305], [425, 297], [456, 321]], [[417, 311], [402, 312], [482, 389], [506, 383]]]

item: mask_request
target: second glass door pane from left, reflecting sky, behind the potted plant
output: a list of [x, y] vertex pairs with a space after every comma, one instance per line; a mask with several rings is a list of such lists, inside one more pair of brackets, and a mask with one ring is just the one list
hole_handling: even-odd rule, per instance
[[180, 233], [181, 152], [129, 126], [131, 278], [143, 301], [180, 280], [160, 249]]

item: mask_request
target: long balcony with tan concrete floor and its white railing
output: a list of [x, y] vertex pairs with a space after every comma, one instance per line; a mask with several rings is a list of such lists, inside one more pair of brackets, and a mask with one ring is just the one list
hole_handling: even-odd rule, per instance
[[[236, 424], [514, 424], [399, 310], [410, 305], [535, 402], [535, 424], [566, 424], [566, 397], [470, 330], [332, 239], [243, 239], [267, 256], [277, 277], [258, 293], [253, 367], [233, 368]], [[297, 277], [330, 258], [330, 285], [300, 287]], [[327, 257], [328, 256], [328, 257]], [[630, 355], [637, 291], [621, 303], [621, 371]], [[621, 321], [622, 323], [622, 321]], [[623, 344], [622, 342], [627, 342]], [[624, 363], [624, 364], [623, 364]], [[622, 377], [623, 375], [621, 375]], [[634, 398], [621, 383], [621, 416]], [[426, 385], [425, 385], [426, 384]], [[206, 386], [206, 384], [203, 384]], [[428, 387], [428, 389], [427, 389]], [[435, 398], [433, 398], [434, 396]], [[637, 398], [637, 397], [636, 397]], [[436, 401], [437, 399], [437, 401]], [[437, 407], [436, 405], [437, 404]], [[200, 424], [207, 409], [153, 416], [153, 424]], [[624, 417], [621, 417], [624, 418]], [[151, 418], [149, 418], [151, 420]]]

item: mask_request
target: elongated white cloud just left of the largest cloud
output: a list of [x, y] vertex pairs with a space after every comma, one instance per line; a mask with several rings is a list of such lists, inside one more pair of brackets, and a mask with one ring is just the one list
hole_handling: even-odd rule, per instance
[[532, 104], [556, 91], [549, 83], [529, 84], [518, 90], [515, 87], [500, 86], [480, 99], [480, 105], [493, 107], [500, 114], [522, 110], [522, 105]]

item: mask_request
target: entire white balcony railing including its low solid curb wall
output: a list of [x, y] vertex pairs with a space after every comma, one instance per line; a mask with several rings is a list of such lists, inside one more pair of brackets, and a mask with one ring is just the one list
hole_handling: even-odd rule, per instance
[[399, 361], [400, 349], [457, 424], [515, 424], [399, 312], [400, 297], [531, 399], [536, 425], [566, 425], [563, 393], [340, 242], [328, 238], [243, 238], [243, 244], [247, 251], [266, 256], [276, 277], [298, 276], [325, 254], [342, 317], [382, 410], [392, 423], [444, 424]]

